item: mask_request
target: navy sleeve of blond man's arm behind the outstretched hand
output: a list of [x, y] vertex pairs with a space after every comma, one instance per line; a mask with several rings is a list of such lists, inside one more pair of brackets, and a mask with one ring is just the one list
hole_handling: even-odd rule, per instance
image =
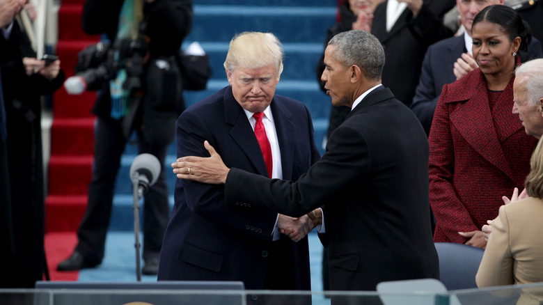
[[[177, 140], [178, 157], [189, 155], [209, 157], [209, 153], [203, 146], [205, 140], [209, 141], [219, 154], [221, 150], [228, 149], [216, 145], [217, 142], [205, 120], [190, 110], [184, 111], [178, 119]], [[226, 205], [223, 185], [207, 185], [178, 179], [175, 182], [175, 201], [184, 201], [190, 210], [201, 217], [229, 226], [241, 233], [262, 240], [272, 238], [277, 213], [251, 208], [247, 205]], [[246, 224], [254, 224], [255, 227], [262, 228], [262, 232], [247, 230]]]

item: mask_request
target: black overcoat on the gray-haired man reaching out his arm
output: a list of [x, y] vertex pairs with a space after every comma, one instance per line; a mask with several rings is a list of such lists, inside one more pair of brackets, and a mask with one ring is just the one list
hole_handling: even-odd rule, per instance
[[[381, 90], [379, 90], [381, 88]], [[332, 132], [297, 182], [231, 169], [226, 202], [299, 216], [324, 205], [332, 290], [439, 278], [428, 201], [428, 141], [414, 114], [379, 87]]]

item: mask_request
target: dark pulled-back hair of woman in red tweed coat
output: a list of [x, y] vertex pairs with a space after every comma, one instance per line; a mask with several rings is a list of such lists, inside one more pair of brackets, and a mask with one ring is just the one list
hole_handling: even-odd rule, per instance
[[473, 18], [471, 29], [475, 24], [482, 21], [499, 24], [505, 33], [509, 35], [511, 41], [519, 36], [521, 38], [519, 49], [528, 51], [528, 45], [532, 40], [532, 30], [516, 10], [501, 4], [487, 6]]

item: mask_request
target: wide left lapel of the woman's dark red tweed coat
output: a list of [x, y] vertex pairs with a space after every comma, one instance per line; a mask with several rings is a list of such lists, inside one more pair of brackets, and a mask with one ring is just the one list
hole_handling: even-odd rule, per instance
[[473, 81], [466, 84], [467, 87], [457, 95], [457, 99], [449, 101], [469, 100], [469, 102], [459, 105], [450, 114], [451, 124], [475, 151], [512, 178], [510, 166], [505, 159], [498, 134], [496, 134], [487, 91], [481, 90], [481, 88], [486, 88], [484, 76], [480, 70], [476, 71], [471, 75], [470, 80]]

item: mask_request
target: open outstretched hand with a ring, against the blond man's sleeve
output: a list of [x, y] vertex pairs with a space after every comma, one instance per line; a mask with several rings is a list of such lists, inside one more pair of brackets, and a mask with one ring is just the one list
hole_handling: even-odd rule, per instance
[[173, 173], [180, 179], [193, 180], [210, 185], [226, 183], [230, 169], [224, 165], [223, 159], [209, 142], [204, 141], [204, 147], [211, 157], [182, 157], [173, 162]]

